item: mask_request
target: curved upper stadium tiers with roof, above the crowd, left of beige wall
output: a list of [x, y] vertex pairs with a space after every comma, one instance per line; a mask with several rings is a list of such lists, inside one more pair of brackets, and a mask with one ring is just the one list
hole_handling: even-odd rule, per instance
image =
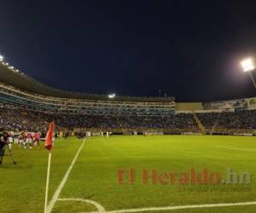
[[0, 99], [2, 103], [42, 112], [79, 114], [167, 115], [175, 111], [173, 97], [127, 97], [89, 95], [50, 88], [1, 66]]

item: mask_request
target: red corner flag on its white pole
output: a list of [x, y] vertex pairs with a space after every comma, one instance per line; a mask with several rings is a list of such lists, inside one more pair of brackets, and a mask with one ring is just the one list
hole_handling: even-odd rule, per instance
[[48, 203], [48, 192], [49, 192], [49, 171], [50, 171], [50, 162], [51, 162], [51, 147], [52, 147], [52, 141], [53, 141], [53, 137], [54, 137], [54, 130], [55, 130], [55, 123], [51, 122], [49, 124], [49, 130], [45, 137], [45, 144], [44, 144], [44, 147], [49, 150], [46, 187], [45, 187], [45, 199], [44, 199], [44, 213], [49, 213], [48, 209], [47, 209], [47, 203]]

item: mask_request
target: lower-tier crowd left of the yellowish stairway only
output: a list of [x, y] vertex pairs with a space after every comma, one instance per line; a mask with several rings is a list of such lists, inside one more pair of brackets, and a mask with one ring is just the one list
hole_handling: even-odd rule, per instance
[[97, 130], [173, 130], [177, 132], [198, 131], [190, 113], [168, 116], [136, 115], [86, 115], [35, 112], [14, 107], [0, 108], [0, 128], [7, 130], [45, 130], [55, 121], [57, 129], [75, 128]]

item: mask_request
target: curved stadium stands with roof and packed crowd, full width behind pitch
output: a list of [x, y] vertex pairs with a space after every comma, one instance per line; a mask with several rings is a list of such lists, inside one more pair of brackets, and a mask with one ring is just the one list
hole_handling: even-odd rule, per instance
[[[2, 127], [6, 127], [7, 114], [22, 114], [22, 124], [36, 117], [41, 124], [55, 119], [60, 129], [68, 130], [252, 135], [256, 130], [256, 98], [208, 103], [178, 103], [174, 97], [110, 99], [108, 95], [51, 88], [4, 61], [0, 63], [0, 106]], [[17, 128], [11, 122], [8, 128]], [[29, 126], [22, 124], [20, 128]], [[38, 128], [33, 125], [33, 129]]]

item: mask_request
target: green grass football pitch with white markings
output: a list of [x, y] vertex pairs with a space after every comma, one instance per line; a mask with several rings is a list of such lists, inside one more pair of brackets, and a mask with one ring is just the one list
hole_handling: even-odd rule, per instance
[[[13, 152], [18, 164], [0, 165], [0, 212], [44, 212], [48, 151]], [[255, 137], [70, 137], [52, 154], [51, 212], [256, 212]]]

